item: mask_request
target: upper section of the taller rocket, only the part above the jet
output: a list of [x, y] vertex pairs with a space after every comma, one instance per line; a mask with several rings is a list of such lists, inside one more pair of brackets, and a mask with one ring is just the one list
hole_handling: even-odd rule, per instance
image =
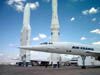
[[52, 0], [52, 20], [51, 20], [51, 42], [59, 41], [59, 20], [58, 20], [57, 0]]

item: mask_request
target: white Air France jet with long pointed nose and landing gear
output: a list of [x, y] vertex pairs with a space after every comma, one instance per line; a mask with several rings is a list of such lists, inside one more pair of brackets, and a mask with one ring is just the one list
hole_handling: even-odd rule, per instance
[[100, 47], [96, 45], [71, 43], [71, 42], [45, 42], [34, 46], [21, 46], [20, 49], [31, 51], [42, 51], [58, 54], [73, 54], [82, 57], [82, 69], [85, 69], [86, 56], [94, 56], [100, 61]]

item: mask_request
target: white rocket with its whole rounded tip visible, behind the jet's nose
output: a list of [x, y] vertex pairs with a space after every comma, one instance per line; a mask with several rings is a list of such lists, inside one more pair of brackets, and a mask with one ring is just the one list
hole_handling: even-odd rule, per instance
[[[30, 4], [27, 3], [24, 8], [23, 16], [23, 28], [21, 30], [21, 46], [30, 45], [31, 27], [30, 27]], [[20, 50], [21, 61], [29, 62], [30, 52], [21, 49]]]

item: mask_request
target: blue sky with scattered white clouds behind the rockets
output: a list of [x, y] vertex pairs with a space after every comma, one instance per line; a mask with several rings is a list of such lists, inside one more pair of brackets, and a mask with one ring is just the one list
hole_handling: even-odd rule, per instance
[[[31, 45], [50, 40], [51, 0], [0, 0], [0, 56], [19, 54], [23, 10], [31, 3]], [[100, 45], [100, 0], [58, 0], [60, 41]]]

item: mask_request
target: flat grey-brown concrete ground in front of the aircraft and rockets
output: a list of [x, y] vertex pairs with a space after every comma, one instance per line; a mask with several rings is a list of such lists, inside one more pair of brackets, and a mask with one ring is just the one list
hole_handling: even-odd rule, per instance
[[81, 69], [75, 66], [66, 66], [61, 68], [52, 67], [18, 67], [18, 66], [0, 66], [0, 75], [100, 75], [100, 68]]

